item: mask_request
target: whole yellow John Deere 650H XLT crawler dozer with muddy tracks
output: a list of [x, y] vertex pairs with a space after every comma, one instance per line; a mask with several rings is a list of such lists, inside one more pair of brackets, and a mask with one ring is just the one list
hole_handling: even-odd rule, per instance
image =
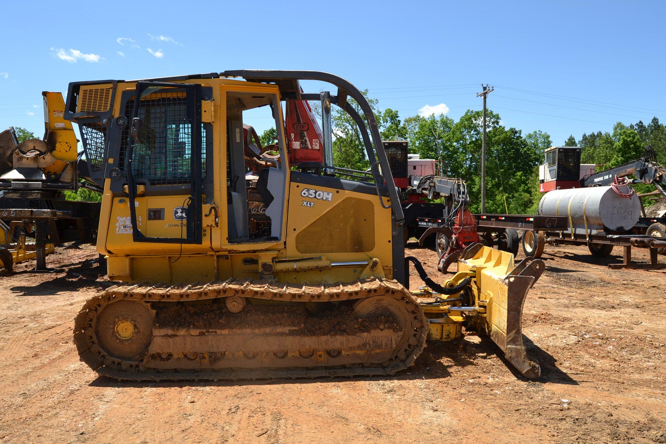
[[[338, 88], [324, 114], [337, 105], [356, 121], [371, 173], [336, 168], [330, 155], [326, 165], [312, 161], [330, 146], [330, 126], [322, 136], [298, 118], [312, 116], [306, 101], [320, 100], [302, 93], [303, 79]], [[439, 286], [406, 260], [400, 197], [377, 124], [344, 79], [226, 71], [78, 82], [69, 85], [66, 114], [98, 166], [97, 248], [121, 281], [75, 320], [81, 359], [99, 373], [387, 375], [412, 365], [426, 337], [459, 337], [467, 322], [523, 374], [539, 375], [520, 322], [543, 262], [514, 268], [510, 254], [474, 244]], [[254, 118], [274, 122], [274, 144], [262, 147], [248, 126]], [[410, 261], [437, 298], [410, 293]]]

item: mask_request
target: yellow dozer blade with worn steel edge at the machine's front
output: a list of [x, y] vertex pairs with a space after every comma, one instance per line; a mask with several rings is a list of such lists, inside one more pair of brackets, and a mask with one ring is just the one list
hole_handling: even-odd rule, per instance
[[545, 264], [540, 259], [525, 258], [514, 267], [513, 254], [473, 244], [458, 260], [459, 272], [472, 269], [476, 270], [476, 285], [472, 285], [474, 306], [480, 312], [470, 316], [471, 324], [486, 332], [525, 377], [539, 377], [539, 363], [529, 359], [525, 350], [522, 318], [527, 292], [545, 270]]

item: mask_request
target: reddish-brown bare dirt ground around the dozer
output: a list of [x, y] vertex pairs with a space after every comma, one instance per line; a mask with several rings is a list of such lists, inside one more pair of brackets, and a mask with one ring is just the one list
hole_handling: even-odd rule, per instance
[[[433, 252], [408, 253], [442, 280]], [[125, 383], [79, 362], [74, 317], [111, 285], [96, 257], [58, 249], [54, 274], [0, 276], [0, 444], [666, 443], [666, 272], [609, 270], [619, 256], [547, 246], [523, 316], [536, 380], [466, 333], [395, 377], [237, 383]]]

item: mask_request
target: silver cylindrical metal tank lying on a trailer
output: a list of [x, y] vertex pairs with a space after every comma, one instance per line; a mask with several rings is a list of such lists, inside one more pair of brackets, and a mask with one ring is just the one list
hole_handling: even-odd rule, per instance
[[[627, 194], [631, 188], [623, 185], [619, 191]], [[570, 215], [573, 228], [585, 228], [587, 220], [588, 230], [625, 231], [638, 222], [641, 201], [635, 193], [629, 198], [620, 196], [612, 186], [553, 190], [541, 198], [539, 214]]]

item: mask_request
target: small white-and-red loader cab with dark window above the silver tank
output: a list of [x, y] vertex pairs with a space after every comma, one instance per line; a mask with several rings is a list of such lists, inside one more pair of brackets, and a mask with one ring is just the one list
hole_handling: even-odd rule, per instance
[[539, 192], [580, 188], [580, 180], [594, 172], [594, 164], [581, 164], [580, 146], [553, 146], [545, 150], [545, 164], [539, 165]]

